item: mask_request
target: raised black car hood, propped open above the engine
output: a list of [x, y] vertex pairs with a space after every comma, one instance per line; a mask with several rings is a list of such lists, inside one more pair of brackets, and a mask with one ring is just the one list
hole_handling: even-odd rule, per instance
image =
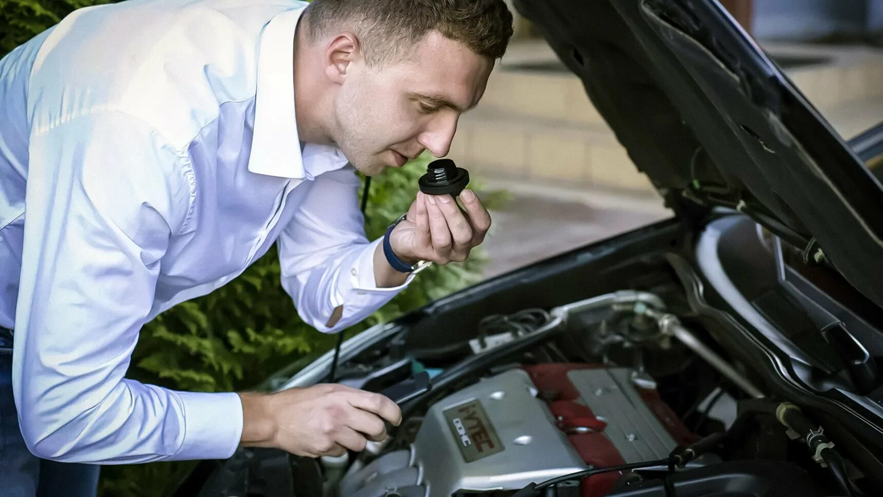
[[515, 4], [678, 215], [736, 208], [883, 306], [879, 182], [720, 4]]

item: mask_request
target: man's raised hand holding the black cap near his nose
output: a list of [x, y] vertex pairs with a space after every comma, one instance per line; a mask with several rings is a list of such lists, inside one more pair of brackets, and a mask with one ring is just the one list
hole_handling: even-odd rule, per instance
[[472, 247], [484, 241], [491, 216], [472, 190], [460, 193], [460, 200], [463, 209], [450, 195], [418, 192], [404, 221], [389, 234], [389, 244], [396, 256], [409, 263], [466, 260]]

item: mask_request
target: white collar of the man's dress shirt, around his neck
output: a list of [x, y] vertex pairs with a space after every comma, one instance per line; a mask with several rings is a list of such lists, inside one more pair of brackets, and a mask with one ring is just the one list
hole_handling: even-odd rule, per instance
[[252, 151], [248, 170], [276, 177], [313, 177], [346, 165], [337, 147], [302, 144], [294, 111], [294, 32], [306, 4], [270, 19], [260, 35]]

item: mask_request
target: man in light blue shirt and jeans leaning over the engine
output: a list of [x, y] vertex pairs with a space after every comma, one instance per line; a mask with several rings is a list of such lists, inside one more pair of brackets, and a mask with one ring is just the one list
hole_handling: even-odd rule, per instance
[[94, 466], [72, 463], [384, 438], [401, 413], [381, 395], [176, 392], [125, 371], [145, 322], [273, 243], [298, 313], [326, 333], [388, 302], [414, 263], [464, 260], [490, 225], [474, 193], [464, 212], [419, 194], [385, 251], [365, 237], [355, 171], [448, 154], [510, 34], [502, 0], [129, 0], [6, 56], [0, 495], [94, 493]]

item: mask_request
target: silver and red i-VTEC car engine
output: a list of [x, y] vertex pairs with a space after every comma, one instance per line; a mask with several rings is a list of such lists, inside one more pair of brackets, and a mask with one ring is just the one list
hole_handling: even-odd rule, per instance
[[[635, 370], [513, 368], [435, 403], [411, 448], [347, 475], [339, 493], [513, 490], [589, 466], [660, 459], [675, 448], [675, 437], [691, 440], [660, 401], [653, 380]], [[598, 495], [609, 489], [600, 479], [594, 484]]]

